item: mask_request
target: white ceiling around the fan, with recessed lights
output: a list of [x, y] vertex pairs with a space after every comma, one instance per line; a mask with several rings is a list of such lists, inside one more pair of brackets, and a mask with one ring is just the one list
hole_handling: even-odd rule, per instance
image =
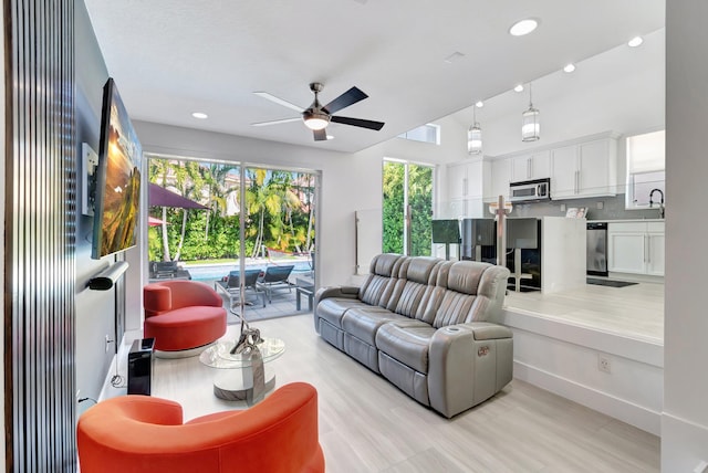
[[[664, 27], [665, 0], [85, 0], [133, 119], [356, 151]], [[533, 33], [513, 22], [540, 20]], [[462, 55], [452, 62], [445, 59]], [[298, 113], [356, 85], [368, 98], [314, 141]], [[206, 120], [192, 112], [209, 115]]]

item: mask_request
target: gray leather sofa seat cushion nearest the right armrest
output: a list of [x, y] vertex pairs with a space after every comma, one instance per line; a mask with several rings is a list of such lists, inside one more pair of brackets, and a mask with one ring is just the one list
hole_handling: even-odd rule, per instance
[[414, 370], [428, 372], [428, 346], [435, 328], [425, 322], [394, 320], [376, 333], [376, 348]]

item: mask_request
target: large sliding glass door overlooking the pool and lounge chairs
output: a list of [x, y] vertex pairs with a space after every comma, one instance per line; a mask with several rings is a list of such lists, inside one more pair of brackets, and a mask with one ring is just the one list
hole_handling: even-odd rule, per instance
[[148, 174], [184, 198], [148, 202], [150, 281], [202, 281], [247, 318], [309, 308], [316, 172], [150, 156]]

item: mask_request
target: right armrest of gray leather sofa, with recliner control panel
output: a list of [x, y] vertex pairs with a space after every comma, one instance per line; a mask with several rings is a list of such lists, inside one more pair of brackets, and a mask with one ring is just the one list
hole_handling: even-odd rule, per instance
[[430, 407], [450, 418], [490, 398], [511, 381], [513, 338], [487, 322], [441, 327], [428, 350]]

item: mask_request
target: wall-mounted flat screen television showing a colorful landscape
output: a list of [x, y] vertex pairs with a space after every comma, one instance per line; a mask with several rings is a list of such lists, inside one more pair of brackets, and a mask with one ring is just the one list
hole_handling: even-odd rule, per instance
[[143, 148], [118, 90], [103, 87], [92, 257], [98, 260], [135, 246], [140, 210]]

